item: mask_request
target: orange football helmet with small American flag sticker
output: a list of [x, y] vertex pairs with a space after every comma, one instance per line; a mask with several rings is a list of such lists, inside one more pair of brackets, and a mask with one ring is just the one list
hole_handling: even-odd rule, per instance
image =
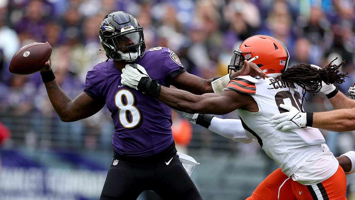
[[281, 74], [287, 68], [289, 53], [278, 39], [266, 35], [255, 35], [244, 40], [233, 52], [228, 65], [228, 73], [240, 70], [245, 59], [258, 65], [266, 74]]

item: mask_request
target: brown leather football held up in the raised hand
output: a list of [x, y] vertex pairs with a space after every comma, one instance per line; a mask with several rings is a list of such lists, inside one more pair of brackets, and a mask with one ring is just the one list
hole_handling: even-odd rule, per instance
[[35, 42], [27, 44], [13, 55], [9, 71], [14, 74], [33, 74], [44, 67], [48, 61], [52, 47], [49, 44]]

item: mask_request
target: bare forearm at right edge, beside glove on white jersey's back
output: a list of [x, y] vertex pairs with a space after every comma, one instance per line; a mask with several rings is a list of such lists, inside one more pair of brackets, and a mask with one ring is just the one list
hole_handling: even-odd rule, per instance
[[313, 114], [312, 127], [329, 131], [355, 130], [355, 109], [340, 109]]

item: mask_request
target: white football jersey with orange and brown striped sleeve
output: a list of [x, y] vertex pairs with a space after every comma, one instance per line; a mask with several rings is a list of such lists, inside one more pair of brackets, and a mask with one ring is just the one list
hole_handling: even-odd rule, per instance
[[[275, 125], [270, 123], [270, 118], [273, 115], [287, 112], [280, 107], [280, 104], [292, 105], [298, 110], [303, 110], [300, 92], [295, 84], [288, 85], [272, 77], [258, 79], [250, 76], [239, 76], [231, 80], [225, 89], [250, 94], [256, 101], [259, 108], [258, 112], [249, 112], [243, 109], [237, 109], [237, 112], [242, 120], [243, 127], [253, 134], [262, 149], [270, 158], [275, 160], [284, 174], [290, 177], [305, 163], [307, 166], [312, 165], [307, 159], [323, 152], [321, 144], [324, 144], [325, 140], [317, 128], [306, 127], [280, 131], [275, 130]], [[337, 160], [334, 161], [334, 159], [330, 159], [329, 164], [324, 165], [324, 168], [331, 167], [330, 174], [334, 174], [338, 168]], [[307, 167], [307, 170], [310, 170], [310, 168]], [[317, 170], [315, 171], [317, 173]], [[326, 173], [326, 178], [333, 175], [329, 176], [329, 173]], [[319, 178], [319, 180], [324, 179], [324, 173], [320, 174]]]

